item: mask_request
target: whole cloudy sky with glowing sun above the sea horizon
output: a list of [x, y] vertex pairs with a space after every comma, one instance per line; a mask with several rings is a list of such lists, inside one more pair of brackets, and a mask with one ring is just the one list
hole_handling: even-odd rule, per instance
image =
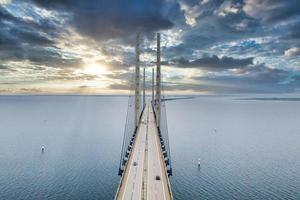
[[0, 0], [0, 94], [300, 93], [299, 0]]

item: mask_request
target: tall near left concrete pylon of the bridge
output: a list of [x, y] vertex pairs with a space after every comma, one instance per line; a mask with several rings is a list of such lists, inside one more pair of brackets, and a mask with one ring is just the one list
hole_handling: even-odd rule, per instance
[[135, 47], [135, 102], [134, 102], [134, 124], [137, 128], [140, 120], [140, 34], [136, 35]]

